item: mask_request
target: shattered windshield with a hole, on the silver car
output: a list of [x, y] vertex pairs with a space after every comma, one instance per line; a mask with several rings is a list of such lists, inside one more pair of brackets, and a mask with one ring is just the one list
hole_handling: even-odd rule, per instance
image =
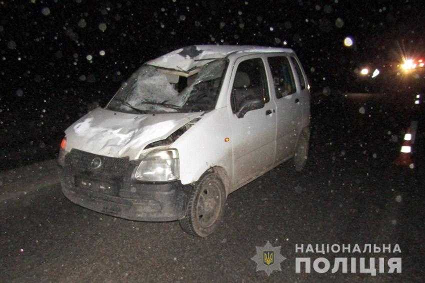
[[218, 59], [185, 73], [145, 64], [121, 85], [106, 109], [126, 113], [211, 110], [226, 65], [226, 59]]

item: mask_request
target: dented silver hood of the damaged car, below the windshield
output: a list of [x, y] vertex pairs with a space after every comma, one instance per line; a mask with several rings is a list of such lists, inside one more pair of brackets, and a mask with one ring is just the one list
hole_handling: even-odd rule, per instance
[[146, 145], [167, 138], [201, 114], [129, 114], [97, 108], [65, 130], [66, 150], [137, 159]]

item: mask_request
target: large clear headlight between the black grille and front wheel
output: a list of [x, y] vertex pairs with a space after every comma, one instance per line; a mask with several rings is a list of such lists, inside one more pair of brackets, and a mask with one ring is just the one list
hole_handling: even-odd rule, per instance
[[178, 152], [165, 149], [149, 152], [134, 170], [134, 179], [146, 182], [166, 182], [180, 177]]

